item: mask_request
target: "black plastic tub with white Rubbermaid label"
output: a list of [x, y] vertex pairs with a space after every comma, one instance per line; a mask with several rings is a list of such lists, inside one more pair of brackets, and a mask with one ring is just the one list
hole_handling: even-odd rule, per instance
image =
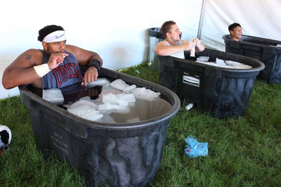
[[[249, 104], [253, 84], [264, 64], [253, 58], [205, 49], [186, 59], [158, 56], [159, 81], [162, 86], [175, 92], [181, 100], [187, 98], [197, 109], [210, 112], [214, 117], [242, 116]], [[195, 62], [199, 56], [232, 60], [252, 66], [252, 69], [221, 68]]]

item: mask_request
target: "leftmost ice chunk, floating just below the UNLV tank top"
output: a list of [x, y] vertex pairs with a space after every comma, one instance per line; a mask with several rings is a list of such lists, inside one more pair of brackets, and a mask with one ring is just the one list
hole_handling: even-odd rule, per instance
[[64, 102], [63, 94], [58, 88], [43, 90], [42, 98], [54, 105], [63, 105]]

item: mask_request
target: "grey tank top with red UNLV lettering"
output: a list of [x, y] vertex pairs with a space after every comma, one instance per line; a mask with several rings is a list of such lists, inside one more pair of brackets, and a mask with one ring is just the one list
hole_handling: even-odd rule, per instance
[[[49, 61], [49, 57], [43, 50], [40, 51], [43, 53], [42, 64], [45, 64]], [[68, 56], [65, 57], [63, 63], [41, 78], [42, 89], [62, 88], [82, 82], [82, 75], [76, 57], [70, 52], [66, 51], [65, 53]]]

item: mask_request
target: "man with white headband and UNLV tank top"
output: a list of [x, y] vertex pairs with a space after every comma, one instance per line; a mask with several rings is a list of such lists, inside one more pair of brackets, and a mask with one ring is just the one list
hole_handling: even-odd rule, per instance
[[[95, 52], [67, 45], [63, 27], [47, 25], [39, 30], [38, 40], [42, 42], [43, 50], [23, 52], [4, 70], [4, 88], [30, 83], [43, 89], [62, 88], [97, 80], [102, 59]], [[79, 66], [88, 66], [84, 78]]]

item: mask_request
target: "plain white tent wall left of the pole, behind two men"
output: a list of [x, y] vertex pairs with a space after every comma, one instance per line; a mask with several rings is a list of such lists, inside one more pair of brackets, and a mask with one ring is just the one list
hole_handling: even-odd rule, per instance
[[[174, 20], [182, 39], [192, 40], [198, 32], [202, 0], [18, 0], [3, 1], [1, 7], [0, 79], [19, 54], [30, 48], [42, 49], [38, 30], [52, 24], [65, 29], [68, 44], [97, 52], [105, 68], [118, 70], [147, 62], [148, 28]], [[18, 94], [17, 88], [6, 90], [0, 85], [0, 99]]]

